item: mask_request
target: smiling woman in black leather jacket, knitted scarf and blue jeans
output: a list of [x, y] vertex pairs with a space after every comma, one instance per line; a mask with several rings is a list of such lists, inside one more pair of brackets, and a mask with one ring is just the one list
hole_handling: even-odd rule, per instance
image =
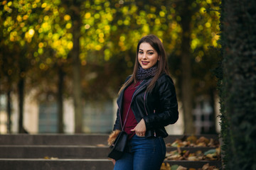
[[109, 142], [124, 124], [129, 140], [122, 158], [113, 160], [114, 170], [159, 170], [166, 154], [164, 126], [178, 120], [178, 103], [164, 46], [155, 35], [139, 40], [134, 71], [119, 90], [117, 106]]

